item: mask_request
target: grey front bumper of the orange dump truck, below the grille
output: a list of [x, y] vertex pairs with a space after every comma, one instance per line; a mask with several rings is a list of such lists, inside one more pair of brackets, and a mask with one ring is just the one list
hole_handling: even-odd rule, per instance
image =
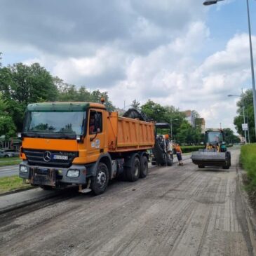
[[[21, 168], [21, 166], [23, 167]], [[27, 172], [24, 171], [24, 166], [27, 168]], [[69, 170], [79, 171], [76, 172], [79, 173], [79, 176], [68, 177]], [[22, 161], [20, 163], [19, 176], [35, 185], [56, 187], [61, 184], [86, 184], [86, 167], [82, 165], [72, 165], [69, 168], [30, 166], [27, 161]]]

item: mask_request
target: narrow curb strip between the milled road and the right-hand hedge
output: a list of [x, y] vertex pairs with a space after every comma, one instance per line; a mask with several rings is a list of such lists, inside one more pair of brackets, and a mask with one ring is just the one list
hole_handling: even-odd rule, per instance
[[248, 194], [243, 189], [244, 185], [243, 185], [242, 175], [246, 172], [245, 172], [245, 170], [241, 169], [238, 166], [238, 163], [236, 164], [236, 173], [237, 173], [237, 180], [238, 180], [238, 190], [239, 190], [239, 193], [241, 194], [241, 201], [242, 201], [243, 209], [244, 209], [244, 212], [245, 212], [245, 219], [246, 219], [246, 222], [248, 224], [248, 233], [249, 233], [249, 236], [250, 236], [250, 242], [251, 242], [252, 247], [253, 247], [253, 253], [254, 253], [254, 255], [256, 255], [255, 254], [255, 249], [256, 249], [256, 215], [254, 213], [254, 210], [250, 206], [250, 201], [249, 201]]

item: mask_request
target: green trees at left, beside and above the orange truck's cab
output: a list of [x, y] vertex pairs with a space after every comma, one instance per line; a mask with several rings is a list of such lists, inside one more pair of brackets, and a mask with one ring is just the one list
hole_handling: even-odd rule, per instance
[[0, 66], [0, 136], [15, 137], [22, 130], [25, 109], [29, 103], [52, 101], [100, 102], [105, 97], [109, 111], [115, 109], [107, 92], [76, 88], [52, 76], [39, 63], [17, 63]]

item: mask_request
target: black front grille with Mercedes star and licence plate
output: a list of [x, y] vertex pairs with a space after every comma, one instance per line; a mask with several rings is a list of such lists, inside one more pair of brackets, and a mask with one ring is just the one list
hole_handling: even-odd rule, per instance
[[79, 156], [77, 151], [52, 151], [38, 149], [23, 149], [30, 165], [53, 166], [68, 168], [72, 165], [75, 157]]

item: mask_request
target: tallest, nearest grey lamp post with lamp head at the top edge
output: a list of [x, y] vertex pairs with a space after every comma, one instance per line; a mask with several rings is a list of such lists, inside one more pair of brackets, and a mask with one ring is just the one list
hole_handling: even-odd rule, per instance
[[[211, 4], [217, 4], [218, 1], [224, 0], [206, 0], [203, 2], [203, 5], [210, 6]], [[249, 43], [250, 43], [250, 69], [252, 73], [252, 95], [253, 95], [253, 112], [254, 112], [254, 123], [255, 123], [255, 136], [256, 136], [256, 90], [255, 90], [255, 74], [254, 74], [254, 65], [252, 57], [252, 36], [250, 32], [250, 11], [249, 11], [249, 2], [246, 0], [247, 4], [247, 17], [248, 17], [248, 30], [249, 30]]]

